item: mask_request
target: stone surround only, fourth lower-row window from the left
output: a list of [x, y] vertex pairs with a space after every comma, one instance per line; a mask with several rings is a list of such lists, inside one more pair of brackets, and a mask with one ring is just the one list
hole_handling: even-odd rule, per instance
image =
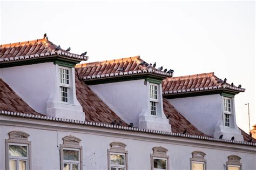
[[164, 158], [166, 159], [166, 165], [167, 165], [167, 170], [169, 170], [169, 156], [166, 154], [167, 153], [167, 149], [164, 147], [153, 147], [152, 148], [153, 153], [150, 154], [150, 158], [151, 158], [151, 170], [154, 169], [154, 161], [153, 158]]

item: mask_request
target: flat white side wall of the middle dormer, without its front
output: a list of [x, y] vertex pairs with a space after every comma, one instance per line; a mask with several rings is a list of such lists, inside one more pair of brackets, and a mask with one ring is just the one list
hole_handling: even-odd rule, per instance
[[144, 79], [89, 86], [127, 124], [138, 127], [138, 115], [147, 110], [149, 98]]

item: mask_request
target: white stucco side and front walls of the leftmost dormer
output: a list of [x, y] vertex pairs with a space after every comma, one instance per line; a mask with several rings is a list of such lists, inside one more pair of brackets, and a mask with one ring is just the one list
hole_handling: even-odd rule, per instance
[[0, 69], [0, 78], [35, 111], [51, 117], [85, 120], [76, 98], [75, 68], [71, 68], [70, 103], [60, 101], [58, 65], [39, 63]]

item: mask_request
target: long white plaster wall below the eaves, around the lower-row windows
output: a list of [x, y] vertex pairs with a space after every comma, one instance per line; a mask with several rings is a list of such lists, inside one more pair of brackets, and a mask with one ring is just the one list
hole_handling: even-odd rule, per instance
[[[209, 147], [200, 145], [198, 140], [197, 146], [186, 144], [186, 142], [174, 143], [169, 140], [150, 140], [149, 138], [138, 137], [136, 132], [134, 137], [130, 135], [102, 134], [97, 131], [77, 131], [76, 128], [66, 128], [59, 130], [42, 130], [38, 128], [27, 128], [24, 126], [6, 126], [1, 125], [0, 133], [0, 169], [5, 169], [5, 145], [4, 139], [8, 139], [10, 131], [18, 130], [30, 134], [29, 141], [32, 145], [32, 169], [59, 169], [59, 146], [63, 143], [62, 138], [67, 135], [73, 135], [80, 138], [80, 146], [83, 146], [83, 169], [107, 169], [107, 149], [110, 148], [110, 143], [113, 141], [123, 142], [126, 144], [126, 151], [128, 151], [128, 167], [130, 170], [149, 170], [150, 169], [150, 154], [152, 148], [161, 146], [167, 148], [169, 151], [169, 165], [170, 169], [188, 170], [190, 169], [190, 158], [193, 151], [201, 151], [206, 153], [207, 170], [224, 169], [223, 164], [226, 164], [229, 155], [238, 155], [241, 157], [242, 169], [254, 170], [256, 167], [256, 151], [254, 147], [247, 146], [251, 149], [250, 152], [246, 150], [239, 151], [234, 148], [225, 149], [225, 147]], [[86, 127], [85, 127], [86, 129]], [[99, 128], [95, 127], [95, 130]], [[111, 130], [109, 130], [111, 131]], [[116, 130], [118, 131], [118, 130]], [[124, 134], [127, 132], [123, 132]], [[150, 136], [150, 135], [149, 135]], [[170, 137], [169, 139], [174, 138]], [[176, 138], [177, 139], [177, 138]], [[188, 139], [192, 140], [192, 139]], [[224, 145], [224, 144], [223, 144]], [[228, 146], [228, 144], [226, 144]]]

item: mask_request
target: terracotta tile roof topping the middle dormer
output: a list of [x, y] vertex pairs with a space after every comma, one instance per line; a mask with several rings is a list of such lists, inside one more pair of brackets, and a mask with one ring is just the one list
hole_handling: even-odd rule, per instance
[[[139, 56], [136, 56], [106, 60], [103, 62], [77, 64], [76, 69], [78, 70], [79, 77], [83, 77], [84, 80], [143, 73], [152, 73], [160, 76], [172, 77], [172, 74], [157, 71], [157, 69], [154, 67], [139, 65], [142, 62], [144, 62], [144, 60], [142, 60]], [[124, 72], [118, 71], [118, 69], [122, 69], [123, 67], [125, 69]]]

